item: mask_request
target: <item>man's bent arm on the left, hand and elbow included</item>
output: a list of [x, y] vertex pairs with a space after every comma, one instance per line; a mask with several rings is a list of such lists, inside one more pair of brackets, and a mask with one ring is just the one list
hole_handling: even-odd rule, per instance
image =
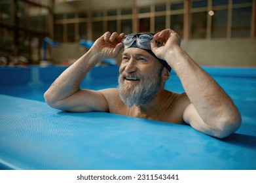
[[108, 105], [102, 91], [81, 90], [84, 76], [99, 61], [116, 58], [122, 48], [124, 33], [107, 32], [86, 54], [68, 67], [45, 92], [45, 101], [53, 108], [71, 112], [107, 111]]

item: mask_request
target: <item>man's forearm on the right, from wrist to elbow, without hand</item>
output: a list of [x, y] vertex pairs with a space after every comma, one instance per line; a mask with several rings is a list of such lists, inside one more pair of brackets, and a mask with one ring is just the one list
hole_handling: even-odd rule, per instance
[[227, 93], [184, 50], [177, 47], [170, 52], [168, 58], [204, 122], [211, 125], [216, 120], [221, 121], [238, 113]]

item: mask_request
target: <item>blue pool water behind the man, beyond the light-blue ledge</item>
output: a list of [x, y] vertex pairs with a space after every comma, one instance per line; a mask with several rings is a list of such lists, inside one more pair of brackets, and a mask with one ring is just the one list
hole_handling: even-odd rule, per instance
[[[0, 94], [45, 102], [43, 93], [67, 67], [0, 67]], [[242, 114], [236, 133], [256, 136], [256, 68], [203, 67], [229, 94]], [[100, 90], [116, 88], [119, 67], [96, 67], [81, 83], [81, 88]], [[174, 71], [166, 90], [184, 92]]]

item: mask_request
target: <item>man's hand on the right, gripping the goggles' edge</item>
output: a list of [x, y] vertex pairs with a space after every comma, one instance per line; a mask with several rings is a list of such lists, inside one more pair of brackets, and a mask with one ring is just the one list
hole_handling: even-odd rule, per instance
[[[168, 52], [172, 52], [174, 48], [181, 45], [179, 35], [172, 29], [164, 29], [156, 33], [154, 38], [156, 42], [151, 42], [151, 50], [158, 58], [164, 60], [168, 58]], [[160, 47], [158, 47], [159, 43], [157, 42], [160, 42]]]

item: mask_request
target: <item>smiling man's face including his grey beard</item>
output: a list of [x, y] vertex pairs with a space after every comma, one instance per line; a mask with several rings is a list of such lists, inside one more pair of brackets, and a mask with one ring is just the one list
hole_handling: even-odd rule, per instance
[[161, 87], [162, 69], [161, 63], [145, 50], [124, 50], [118, 86], [122, 101], [128, 107], [153, 101]]

